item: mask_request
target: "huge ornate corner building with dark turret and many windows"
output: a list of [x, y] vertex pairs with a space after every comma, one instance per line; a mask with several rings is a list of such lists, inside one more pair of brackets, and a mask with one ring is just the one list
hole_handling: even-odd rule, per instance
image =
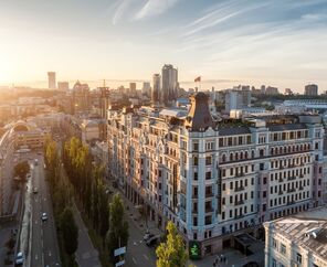
[[107, 138], [112, 179], [159, 227], [172, 221], [199, 256], [323, 203], [318, 116], [215, 121], [198, 93], [190, 110], [110, 109]]

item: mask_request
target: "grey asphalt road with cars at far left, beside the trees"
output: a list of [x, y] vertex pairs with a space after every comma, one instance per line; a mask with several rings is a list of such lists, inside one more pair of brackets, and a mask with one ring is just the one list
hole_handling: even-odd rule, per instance
[[[31, 235], [31, 267], [56, 266], [60, 263], [57, 248], [56, 229], [53, 218], [52, 203], [49, 193], [48, 182], [43, 168], [43, 157], [36, 156], [38, 165], [34, 164], [32, 175], [32, 186], [38, 188], [38, 193], [32, 195], [32, 232]], [[41, 215], [45, 212], [48, 221], [42, 222]]]

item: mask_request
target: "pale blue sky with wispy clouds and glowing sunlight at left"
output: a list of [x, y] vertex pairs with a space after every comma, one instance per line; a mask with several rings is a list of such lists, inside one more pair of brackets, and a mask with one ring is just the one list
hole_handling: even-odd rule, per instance
[[0, 0], [0, 84], [150, 81], [327, 89], [327, 0]]

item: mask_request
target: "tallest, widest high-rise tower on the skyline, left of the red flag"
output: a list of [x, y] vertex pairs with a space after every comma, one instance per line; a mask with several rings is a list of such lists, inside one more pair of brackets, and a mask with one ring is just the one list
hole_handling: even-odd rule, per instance
[[162, 102], [168, 105], [177, 98], [178, 71], [172, 65], [164, 65], [162, 76]]

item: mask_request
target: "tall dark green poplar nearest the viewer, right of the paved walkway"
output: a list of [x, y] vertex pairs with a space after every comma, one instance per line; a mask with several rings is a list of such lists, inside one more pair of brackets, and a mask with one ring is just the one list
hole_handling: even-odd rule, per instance
[[126, 246], [128, 242], [128, 223], [124, 220], [124, 204], [118, 193], [114, 195], [109, 204], [109, 231], [106, 239], [114, 263], [114, 250], [119, 246]]

